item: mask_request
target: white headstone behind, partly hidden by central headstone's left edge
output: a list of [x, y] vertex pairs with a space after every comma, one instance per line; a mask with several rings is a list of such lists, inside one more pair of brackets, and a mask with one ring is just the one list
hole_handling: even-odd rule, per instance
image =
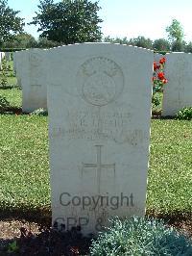
[[18, 83], [22, 87], [22, 111], [31, 113], [47, 109], [47, 87], [44, 83], [42, 58], [44, 50], [30, 49], [14, 53]]

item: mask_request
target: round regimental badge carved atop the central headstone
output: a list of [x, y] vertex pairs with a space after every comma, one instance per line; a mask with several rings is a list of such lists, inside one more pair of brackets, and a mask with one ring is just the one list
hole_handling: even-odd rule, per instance
[[94, 106], [105, 106], [123, 91], [124, 76], [118, 64], [104, 57], [95, 57], [81, 65], [77, 76], [79, 92]]

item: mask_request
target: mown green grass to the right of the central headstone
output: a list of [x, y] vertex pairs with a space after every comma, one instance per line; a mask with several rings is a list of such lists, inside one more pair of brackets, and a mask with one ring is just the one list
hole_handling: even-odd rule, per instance
[[148, 211], [192, 211], [192, 121], [153, 120]]

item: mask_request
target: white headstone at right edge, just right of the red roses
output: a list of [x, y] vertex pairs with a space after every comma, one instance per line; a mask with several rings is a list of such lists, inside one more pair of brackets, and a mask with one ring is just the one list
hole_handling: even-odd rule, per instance
[[166, 55], [162, 115], [176, 115], [180, 109], [192, 106], [192, 55], [171, 53]]

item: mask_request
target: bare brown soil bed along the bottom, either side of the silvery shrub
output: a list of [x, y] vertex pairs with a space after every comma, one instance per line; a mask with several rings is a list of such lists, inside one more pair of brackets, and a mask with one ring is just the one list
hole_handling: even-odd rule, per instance
[[[192, 219], [172, 219], [170, 226], [192, 239]], [[16, 242], [18, 249], [10, 249]], [[74, 256], [88, 255], [91, 238], [81, 231], [60, 233], [50, 223], [37, 223], [25, 219], [0, 220], [0, 255]], [[9, 252], [10, 251], [10, 252]]]

